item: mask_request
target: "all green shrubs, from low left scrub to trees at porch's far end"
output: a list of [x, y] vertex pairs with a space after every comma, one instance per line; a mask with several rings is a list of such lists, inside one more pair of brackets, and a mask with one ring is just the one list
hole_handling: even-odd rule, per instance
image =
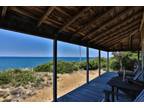
[[[113, 54], [114, 56], [110, 58], [110, 69], [111, 70], [119, 70], [120, 62], [118, 56]], [[133, 70], [133, 65], [137, 60], [137, 54], [131, 52], [123, 52], [122, 53], [122, 64], [123, 67], [127, 70]], [[78, 70], [86, 70], [86, 61], [81, 62], [66, 62], [66, 61], [58, 61], [57, 64], [57, 72], [59, 74], [64, 73], [72, 73]], [[98, 69], [98, 57], [95, 59], [90, 59], [89, 61], [89, 69], [97, 70]], [[101, 67], [103, 70], [106, 70], [106, 58], [101, 58]], [[42, 78], [36, 77], [36, 72], [52, 72], [53, 71], [53, 63], [48, 62], [46, 64], [39, 65], [31, 70], [21, 70], [21, 69], [11, 69], [4, 72], [0, 72], [0, 85], [11, 83], [13, 86], [21, 86], [29, 83], [34, 83], [39, 85], [42, 82]]]

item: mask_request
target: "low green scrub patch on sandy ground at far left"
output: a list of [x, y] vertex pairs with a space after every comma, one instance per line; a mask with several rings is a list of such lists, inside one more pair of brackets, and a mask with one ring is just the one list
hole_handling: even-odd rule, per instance
[[29, 83], [39, 83], [41, 78], [34, 76], [34, 72], [19, 69], [8, 70], [0, 73], [0, 85], [12, 84], [13, 86], [24, 86]]

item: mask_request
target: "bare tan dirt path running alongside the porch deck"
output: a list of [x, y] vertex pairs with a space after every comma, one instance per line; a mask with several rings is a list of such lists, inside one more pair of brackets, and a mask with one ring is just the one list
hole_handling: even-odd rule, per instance
[[[96, 78], [98, 71], [90, 71], [90, 79]], [[58, 75], [58, 97], [62, 96], [71, 90], [79, 87], [86, 82], [86, 72], [78, 71], [72, 74]], [[26, 98], [27, 102], [45, 102], [52, 101], [52, 86], [44, 87], [38, 90], [36, 95]]]

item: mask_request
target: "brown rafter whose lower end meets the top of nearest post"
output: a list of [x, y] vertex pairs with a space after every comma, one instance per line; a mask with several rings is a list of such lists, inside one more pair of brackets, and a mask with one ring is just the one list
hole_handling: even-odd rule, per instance
[[65, 30], [69, 25], [71, 25], [75, 20], [77, 20], [88, 9], [90, 9], [90, 7], [82, 9], [78, 14], [72, 17], [71, 20], [68, 23], [66, 23], [58, 32]]

